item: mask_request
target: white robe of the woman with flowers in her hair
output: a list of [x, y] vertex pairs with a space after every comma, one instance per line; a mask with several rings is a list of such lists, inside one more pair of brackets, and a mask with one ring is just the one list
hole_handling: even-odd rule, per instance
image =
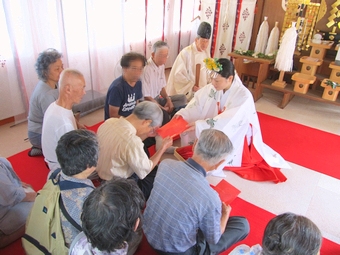
[[[219, 109], [218, 104], [220, 104]], [[221, 113], [219, 114], [218, 111]], [[252, 135], [253, 145], [268, 165], [276, 168], [290, 168], [281, 155], [263, 142], [253, 97], [238, 75], [235, 75], [226, 93], [216, 91], [214, 86], [209, 84], [197, 91], [193, 100], [177, 114], [188, 123], [195, 122], [196, 137], [199, 137], [201, 131], [207, 128], [221, 130], [229, 137], [234, 150], [226, 157], [223, 167], [241, 166], [244, 139]], [[250, 139], [248, 139], [248, 145], [249, 142]]]

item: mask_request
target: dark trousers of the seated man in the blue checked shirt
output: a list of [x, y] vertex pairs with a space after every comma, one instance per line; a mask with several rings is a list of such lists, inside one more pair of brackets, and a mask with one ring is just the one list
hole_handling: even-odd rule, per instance
[[156, 250], [160, 255], [213, 255], [220, 254], [233, 244], [248, 236], [249, 223], [244, 217], [230, 217], [226, 229], [216, 244], [208, 244], [201, 230], [197, 232], [197, 243], [185, 252], [172, 253]]

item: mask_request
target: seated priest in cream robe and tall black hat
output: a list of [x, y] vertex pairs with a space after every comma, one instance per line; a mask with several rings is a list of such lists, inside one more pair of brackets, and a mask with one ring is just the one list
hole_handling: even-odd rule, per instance
[[[197, 90], [208, 84], [203, 60], [210, 58], [210, 37], [211, 25], [202, 22], [197, 29], [195, 41], [178, 54], [172, 65], [166, 87], [168, 95], [182, 94], [190, 101]], [[196, 73], [197, 65], [199, 73]]]

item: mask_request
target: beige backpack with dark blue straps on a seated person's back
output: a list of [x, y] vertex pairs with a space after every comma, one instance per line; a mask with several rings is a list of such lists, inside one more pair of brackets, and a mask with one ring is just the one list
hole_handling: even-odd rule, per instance
[[27, 255], [68, 254], [69, 249], [65, 246], [60, 210], [75, 228], [82, 231], [81, 226], [66, 211], [60, 190], [91, 186], [67, 180], [60, 181], [59, 172], [60, 169], [53, 172], [42, 190], [38, 192], [27, 217], [26, 231], [22, 237], [22, 244]]

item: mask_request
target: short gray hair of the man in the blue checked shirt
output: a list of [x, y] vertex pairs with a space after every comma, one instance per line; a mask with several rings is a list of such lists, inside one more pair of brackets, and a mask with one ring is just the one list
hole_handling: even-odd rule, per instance
[[233, 144], [222, 131], [205, 129], [198, 138], [194, 154], [210, 165], [214, 165], [230, 154], [233, 149]]

